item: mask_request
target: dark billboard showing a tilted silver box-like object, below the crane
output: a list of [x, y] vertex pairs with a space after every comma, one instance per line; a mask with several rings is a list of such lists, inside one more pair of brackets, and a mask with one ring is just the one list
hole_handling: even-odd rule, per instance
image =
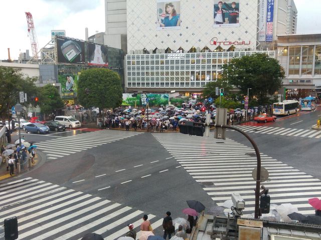
[[85, 64], [85, 42], [56, 36], [58, 63]]

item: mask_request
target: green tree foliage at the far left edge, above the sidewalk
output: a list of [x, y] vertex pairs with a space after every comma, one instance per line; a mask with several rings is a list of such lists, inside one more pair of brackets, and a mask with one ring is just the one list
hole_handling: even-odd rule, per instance
[[12, 106], [19, 102], [19, 91], [27, 93], [28, 102], [31, 96], [38, 95], [39, 87], [35, 85], [36, 78], [25, 77], [19, 69], [12, 67], [0, 67], [0, 116], [9, 117]]

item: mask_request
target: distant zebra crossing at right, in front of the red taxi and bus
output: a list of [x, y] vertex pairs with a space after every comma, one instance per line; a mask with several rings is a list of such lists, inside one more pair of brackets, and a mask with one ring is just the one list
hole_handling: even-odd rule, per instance
[[[263, 134], [274, 134], [281, 136], [301, 136], [321, 138], [321, 131], [312, 129], [297, 129], [275, 126], [252, 126], [252, 125], [235, 125], [235, 127], [245, 132], [255, 132]], [[232, 130], [233, 131], [233, 130]]]

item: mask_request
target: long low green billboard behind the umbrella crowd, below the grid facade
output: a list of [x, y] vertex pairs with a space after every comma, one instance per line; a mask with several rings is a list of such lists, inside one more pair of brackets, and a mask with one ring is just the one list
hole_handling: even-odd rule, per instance
[[162, 93], [122, 93], [122, 103], [124, 106], [146, 105], [146, 95], [149, 106], [160, 106], [169, 103], [169, 94]]

